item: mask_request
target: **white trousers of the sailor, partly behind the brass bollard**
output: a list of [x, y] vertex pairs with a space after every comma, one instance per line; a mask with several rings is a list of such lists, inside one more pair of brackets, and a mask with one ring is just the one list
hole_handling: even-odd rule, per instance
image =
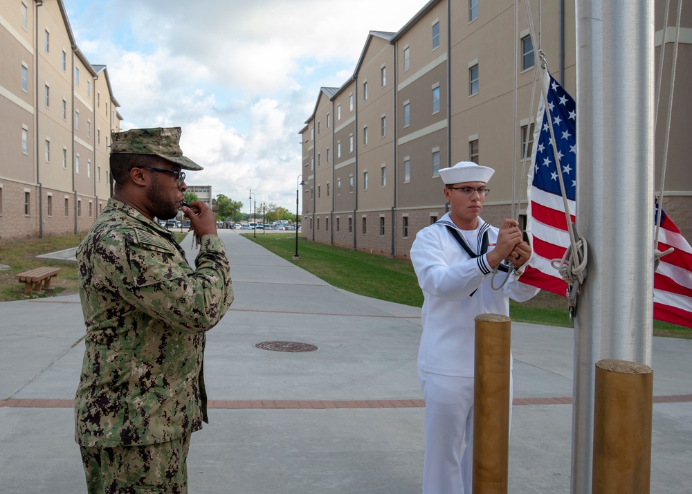
[[[423, 494], [472, 494], [473, 378], [430, 374], [420, 369], [418, 378], [426, 401]], [[510, 372], [509, 403], [512, 396]], [[510, 406], [510, 423], [511, 418]]]

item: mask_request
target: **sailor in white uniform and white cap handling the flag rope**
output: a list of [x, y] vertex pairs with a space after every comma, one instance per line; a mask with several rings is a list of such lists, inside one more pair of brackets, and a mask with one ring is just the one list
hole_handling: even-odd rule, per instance
[[[411, 248], [425, 296], [418, 354], [426, 401], [424, 494], [471, 494], [475, 316], [509, 315], [510, 297], [524, 302], [539, 291], [514, 277], [500, 290], [491, 286], [493, 268], [504, 259], [520, 269], [531, 257], [515, 220], [505, 219], [498, 230], [480, 217], [494, 172], [466, 161], [439, 170], [450, 210], [419, 231]], [[500, 272], [495, 286], [505, 276]]]

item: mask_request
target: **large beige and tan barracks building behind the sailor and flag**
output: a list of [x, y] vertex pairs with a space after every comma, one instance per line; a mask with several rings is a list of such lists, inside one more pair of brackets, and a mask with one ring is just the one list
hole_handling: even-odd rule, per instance
[[[665, 36], [662, 108], [668, 106], [675, 12], [656, 1], [657, 62]], [[574, 0], [531, 0], [550, 73], [576, 95]], [[302, 235], [380, 255], [408, 257], [416, 233], [445, 214], [440, 167], [475, 161], [495, 168], [483, 217], [511, 217], [526, 181], [537, 100], [534, 53], [520, 2], [432, 0], [397, 33], [371, 31], [352, 77], [320, 89], [300, 130]], [[672, 10], [672, 9], [671, 9]], [[664, 30], [667, 26], [667, 30]], [[516, 118], [514, 118], [516, 79]], [[683, 9], [664, 208], [692, 238], [692, 12]], [[534, 113], [534, 114], [531, 114]], [[656, 187], [666, 111], [656, 131]], [[529, 139], [529, 158], [522, 150]], [[523, 190], [520, 191], [520, 185]], [[514, 189], [514, 190], [513, 190]], [[652, 212], [653, 214], [653, 212]]]

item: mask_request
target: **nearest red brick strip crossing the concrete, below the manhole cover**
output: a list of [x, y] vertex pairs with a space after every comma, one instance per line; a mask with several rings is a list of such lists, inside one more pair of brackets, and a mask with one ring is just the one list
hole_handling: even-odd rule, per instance
[[[671, 396], [654, 396], [653, 403], [689, 403], [692, 394], [674, 394]], [[571, 396], [554, 398], [515, 398], [513, 405], [571, 405]], [[210, 400], [208, 408], [228, 410], [264, 409], [264, 410], [326, 410], [336, 408], [423, 408], [424, 400]], [[0, 400], [0, 408], [74, 408], [74, 400], [55, 399], [17, 399]]]

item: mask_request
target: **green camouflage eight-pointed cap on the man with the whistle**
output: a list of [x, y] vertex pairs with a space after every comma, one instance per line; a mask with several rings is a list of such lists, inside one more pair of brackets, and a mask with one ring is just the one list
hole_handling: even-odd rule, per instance
[[180, 127], [156, 127], [156, 129], [130, 129], [111, 132], [111, 154], [155, 154], [183, 170], [203, 170], [190, 158], [183, 156], [178, 145]]

